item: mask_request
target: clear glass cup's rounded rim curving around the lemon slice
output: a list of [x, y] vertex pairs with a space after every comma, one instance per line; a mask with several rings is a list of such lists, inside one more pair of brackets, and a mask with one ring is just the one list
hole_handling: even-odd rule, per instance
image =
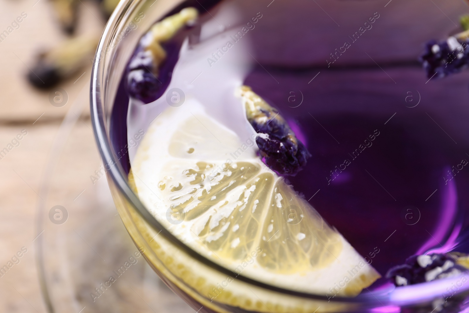
[[[109, 49], [111, 44], [115, 41], [116, 34], [119, 33], [120, 30], [123, 29], [125, 26], [125, 22], [129, 21], [129, 18], [133, 16], [134, 12], [138, 8], [146, 8], [149, 7], [149, 2], [147, 0], [128, 0], [128, 1], [121, 1], [118, 7], [114, 10], [113, 14], [111, 15], [108, 23], [106, 24], [106, 28], [103, 32], [103, 36], [98, 45], [98, 49], [95, 55], [95, 59], [93, 62], [93, 69], [92, 69], [92, 76], [91, 76], [91, 94], [90, 94], [90, 105], [91, 105], [91, 122], [93, 125], [93, 130], [95, 132], [95, 138], [98, 145], [98, 150], [101, 154], [101, 157], [104, 162], [108, 162], [113, 164], [108, 170], [108, 182], [110, 185], [113, 185], [115, 188], [114, 201], [117, 204], [116, 198], [121, 198], [121, 201], [125, 201], [128, 203], [129, 206], [134, 208], [138, 214], [143, 218], [143, 220], [148, 223], [153, 229], [159, 231], [160, 235], [165, 237], [169, 240], [172, 244], [176, 245], [179, 249], [187, 253], [189, 256], [197, 260], [198, 262], [205, 264], [212, 269], [215, 269], [221, 273], [226, 275], [233, 274], [230, 270], [225, 267], [220, 266], [219, 264], [206, 259], [205, 257], [199, 255], [197, 252], [183, 244], [179, 239], [174, 237], [167, 229], [165, 229], [159, 221], [157, 221], [153, 215], [151, 215], [144, 205], [141, 203], [140, 199], [136, 196], [136, 194], [131, 190], [128, 182], [127, 177], [123, 174], [124, 171], [121, 168], [120, 163], [114, 157], [112, 153], [112, 147], [110, 143], [110, 139], [107, 133], [108, 128], [108, 118], [110, 115], [110, 111], [112, 109], [112, 103], [114, 100], [114, 95], [116, 93], [116, 88], [118, 82], [121, 79], [120, 75], [115, 75], [116, 73], [112, 73], [114, 75], [110, 75], [110, 69], [113, 65], [117, 64], [119, 61], [125, 60], [126, 58], [117, 60], [116, 59], [116, 51], [115, 49], [117, 46], [114, 46], [113, 49]], [[169, 1], [168, 1], [169, 2]], [[154, 2], [153, 2], [154, 3]], [[182, 3], [182, 0], [173, 1], [171, 5], [166, 6], [166, 10], [169, 11], [171, 8], [176, 6], [177, 4]], [[161, 16], [163, 16], [164, 10], [162, 10]], [[146, 21], [145, 24], [147, 26], [151, 25], [153, 21]], [[142, 25], [142, 28], [145, 28]], [[114, 40], [113, 40], [114, 39]], [[128, 44], [128, 47], [133, 47], [136, 44], [136, 40], [134, 40], [134, 45]], [[131, 48], [128, 48], [131, 49]], [[129, 55], [127, 55], [129, 56]], [[122, 66], [122, 63], [120, 64]], [[122, 73], [123, 68], [121, 71], [117, 70], [117, 73]], [[114, 85], [113, 85], [114, 84]], [[104, 101], [104, 98], [109, 100]], [[122, 198], [123, 196], [123, 198]], [[132, 234], [131, 234], [132, 235]], [[135, 241], [135, 237], [132, 236]], [[159, 273], [161, 274], [161, 273]], [[345, 298], [345, 297], [336, 297], [331, 299], [330, 301], [326, 296], [319, 296], [313, 294], [307, 294], [302, 292], [296, 292], [293, 290], [286, 290], [282, 288], [277, 288], [262, 282], [254, 281], [250, 278], [244, 276], [237, 276], [237, 279], [255, 285], [259, 288], [264, 288], [266, 290], [279, 292], [282, 294], [291, 295], [294, 297], [305, 298], [305, 299], [317, 299], [320, 301], [325, 301], [326, 303], [330, 302], [345, 302], [348, 304], [353, 303], [361, 303], [370, 305], [370, 307], [374, 306], [384, 306], [384, 305], [411, 305], [416, 303], [424, 303], [431, 301], [432, 299], [441, 296], [442, 293], [446, 291], [446, 286], [451, 284], [452, 282], [456, 282], [460, 277], [455, 278], [448, 278], [444, 281], [436, 281], [430, 283], [424, 283], [422, 285], [412, 285], [412, 286], [405, 286], [400, 287], [399, 289], [389, 291], [389, 290], [378, 290], [373, 291], [373, 293], [362, 294], [356, 298]], [[469, 286], [461, 288], [459, 293], [465, 292], [469, 290]]]

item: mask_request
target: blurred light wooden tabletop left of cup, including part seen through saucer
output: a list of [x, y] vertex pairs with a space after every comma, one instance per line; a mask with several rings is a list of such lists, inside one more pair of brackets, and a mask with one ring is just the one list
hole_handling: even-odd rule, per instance
[[[96, 1], [79, 2], [80, 17], [76, 34], [92, 32], [99, 36], [106, 21], [100, 19], [101, 13]], [[9, 267], [6, 274], [0, 271], [0, 312], [47, 312], [40, 289], [36, 259], [36, 244], [40, 240], [45, 243], [43, 260], [47, 262], [46, 279], [57, 313], [146, 313], [155, 312], [153, 308], [158, 308], [161, 313], [192, 312], [187, 304], [159, 280], [146, 262], [133, 266], [133, 273], [121, 278], [117, 284], [119, 287], [113, 287], [99, 302], [82, 309], [83, 302], [86, 302], [83, 299], [89, 300], [93, 287], [98, 285], [94, 280], [118, 268], [114, 263], [119, 261], [119, 257], [125, 256], [119, 253], [134, 251], [136, 247], [119, 216], [114, 214], [117, 211], [113, 206], [106, 178], [100, 179], [96, 185], [89, 178], [102, 165], [90, 122], [91, 62], [74, 77], [52, 90], [40, 91], [31, 87], [25, 76], [30, 71], [36, 53], [41, 47], [57, 45], [65, 36], [54, 20], [48, 0], [0, 0], [0, 33], [8, 31], [8, 26], [22, 13], [27, 16], [19, 24], [19, 28], [16, 27], [7, 38], [0, 40], [0, 151], [3, 148], [9, 149], [5, 156], [0, 154], [0, 269], [5, 265]], [[63, 107], [54, 107], [49, 101], [49, 94], [58, 88], [65, 90], [68, 95], [68, 102]], [[54, 139], [62, 134], [61, 122], [69, 111], [80, 119], [76, 119], [71, 133], [67, 135], [67, 142], [62, 144], [61, 148], [64, 149], [61, 149], [60, 157], [53, 164], [53, 173], [46, 173], [51, 156], [57, 153], [53, 148]], [[15, 138], [19, 137], [21, 140], [17, 142]], [[45, 173], [53, 176], [48, 192], [43, 191]], [[106, 199], [103, 200], [106, 194], [107, 198], [104, 197]], [[45, 217], [44, 232], [41, 232], [37, 228], [37, 211], [41, 203], [47, 212], [56, 204], [67, 206], [70, 214], [67, 223], [53, 225]], [[110, 221], [106, 217], [96, 227], [96, 214], [89, 212], [93, 209], [102, 211], [100, 206], [103, 204], [113, 211], [110, 213], [117, 220]], [[76, 225], [80, 218], [86, 221]], [[60, 226], [62, 233], [54, 230], [55, 226]], [[102, 235], [98, 230], [107, 231], [106, 235], [124, 237], [122, 240], [107, 237], [97, 240]], [[63, 235], [67, 232], [75, 237], [80, 236], [74, 237], [78, 244], [73, 243], [71, 237]], [[57, 248], [53, 242], [55, 239], [67, 246], [68, 251], [54, 250]], [[89, 267], [88, 256], [95, 253], [88, 249], [91, 247], [89, 243], [95, 245], [100, 253], [106, 251], [101, 252], [98, 244], [105, 245], [107, 252], [116, 257], [114, 260], [113, 257], [106, 257], [107, 262], [104, 264], [96, 262]], [[57, 257], [54, 253], [58, 254]], [[77, 256], [73, 253], [81, 254]], [[16, 255], [21, 255], [21, 258], [16, 259]], [[17, 264], [13, 264], [12, 258]], [[70, 269], [68, 274], [75, 275], [72, 282], [74, 286], [63, 282], [61, 277], [54, 276], [56, 265], [61, 269]], [[132, 286], [133, 291], [129, 291]]]

